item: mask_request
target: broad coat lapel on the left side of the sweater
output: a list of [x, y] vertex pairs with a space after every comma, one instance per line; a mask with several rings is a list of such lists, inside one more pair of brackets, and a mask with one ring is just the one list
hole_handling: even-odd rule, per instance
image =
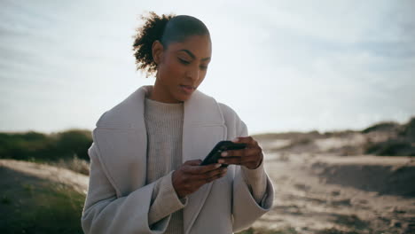
[[136, 90], [104, 113], [92, 133], [103, 169], [117, 197], [145, 185], [147, 135], [143, 113], [147, 89]]

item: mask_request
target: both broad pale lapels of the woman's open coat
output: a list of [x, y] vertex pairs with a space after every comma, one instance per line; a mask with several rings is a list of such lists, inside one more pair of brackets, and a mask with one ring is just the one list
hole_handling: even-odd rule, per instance
[[[153, 86], [142, 86], [119, 105], [103, 114], [94, 130], [103, 168], [115, 185], [117, 196], [125, 196], [145, 185], [146, 146], [145, 97]], [[184, 102], [182, 160], [203, 160], [227, 138], [223, 113], [214, 98], [195, 90]], [[127, 168], [127, 169], [126, 169]], [[203, 207], [212, 183], [192, 193], [184, 207], [184, 229], [188, 233]]]

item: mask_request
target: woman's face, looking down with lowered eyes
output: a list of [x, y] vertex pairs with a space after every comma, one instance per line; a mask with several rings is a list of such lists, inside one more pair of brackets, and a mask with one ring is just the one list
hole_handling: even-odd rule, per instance
[[[160, 46], [162, 46], [160, 44]], [[203, 82], [212, 54], [209, 35], [192, 35], [160, 51], [152, 99], [178, 103], [189, 99]]]

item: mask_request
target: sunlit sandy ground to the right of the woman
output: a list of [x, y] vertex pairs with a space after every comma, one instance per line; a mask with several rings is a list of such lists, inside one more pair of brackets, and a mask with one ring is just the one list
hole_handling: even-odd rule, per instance
[[254, 227], [415, 233], [413, 157], [274, 152], [267, 154], [266, 169], [275, 204]]

